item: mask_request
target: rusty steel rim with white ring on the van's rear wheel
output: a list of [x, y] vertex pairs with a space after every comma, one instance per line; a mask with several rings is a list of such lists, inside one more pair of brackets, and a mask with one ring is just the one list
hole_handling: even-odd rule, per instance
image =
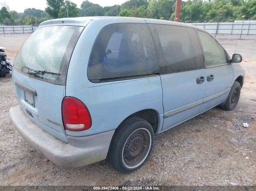
[[123, 147], [124, 165], [128, 168], [138, 167], [147, 158], [151, 144], [151, 135], [147, 129], [141, 128], [132, 132]]

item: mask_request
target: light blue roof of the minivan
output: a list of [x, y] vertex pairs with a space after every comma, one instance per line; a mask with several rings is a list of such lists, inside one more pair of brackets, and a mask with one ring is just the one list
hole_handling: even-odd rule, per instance
[[185, 24], [180, 22], [174, 21], [166, 21], [166, 20], [159, 20], [159, 19], [148, 19], [148, 18], [137, 18], [137, 17], [108, 17], [108, 16], [94, 16], [94, 17], [75, 17], [75, 18], [60, 18], [60, 19], [52, 19], [48, 21], [44, 21], [39, 24], [39, 27], [43, 26], [50, 26], [50, 25], [77, 25], [77, 26], [86, 26], [90, 21], [97, 20], [97, 21], [113, 21], [113, 23], [148, 23], [148, 24], [168, 24], [168, 25], [176, 25], [182, 27], [190, 27], [195, 29], [203, 30], [200, 27]]

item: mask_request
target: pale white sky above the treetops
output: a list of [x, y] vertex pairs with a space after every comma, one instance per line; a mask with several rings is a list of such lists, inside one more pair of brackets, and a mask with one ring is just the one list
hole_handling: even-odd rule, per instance
[[[101, 5], [102, 7], [105, 6], [112, 6], [112, 5], [121, 5], [123, 2], [127, 0], [89, 0], [89, 2], [96, 3]], [[0, 0], [1, 3], [5, 2], [11, 11], [17, 11], [18, 13], [23, 13], [24, 9], [27, 8], [35, 8], [45, 10], [47, 7], [46, 0]], [[74, 2], [78, 8], [80, 8], [83, 0], [71, 0]]]

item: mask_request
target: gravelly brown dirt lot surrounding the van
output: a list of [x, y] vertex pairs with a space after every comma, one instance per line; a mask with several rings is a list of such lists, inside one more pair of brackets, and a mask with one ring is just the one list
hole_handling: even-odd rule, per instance
[[[29, 34], [0, 35], [13, 63]], [[232, 55], [236, 40], [220, 38]], [[215, 107], [155, 137], [149, 160], [121, 174], [106, 161], [64, 169], [33, 150], [18, 134], [9, 108], [18, 105], [11, 75], [0, 78], [0, 185], [256, 185], [256, 40], [238, 40], [246, 70], [233, 111]], [[249, 127], [244, 128], [243, 123]]]

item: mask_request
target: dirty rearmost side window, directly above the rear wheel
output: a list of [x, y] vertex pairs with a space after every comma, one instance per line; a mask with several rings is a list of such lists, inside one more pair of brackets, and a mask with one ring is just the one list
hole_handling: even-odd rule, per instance
[[111, 24], [103, 28], [88, 65], [92, 82], [159, 72], [154, 42], [147, 24]]

